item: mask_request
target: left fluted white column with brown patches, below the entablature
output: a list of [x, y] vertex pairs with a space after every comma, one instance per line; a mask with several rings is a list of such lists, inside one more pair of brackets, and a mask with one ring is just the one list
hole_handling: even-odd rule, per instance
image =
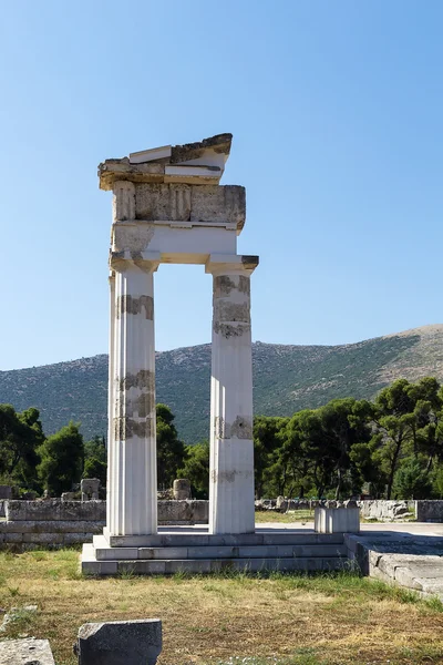
[[110, 535], [157, 531], [153, 260], [113, 257], [113, 433], [109, 446]]

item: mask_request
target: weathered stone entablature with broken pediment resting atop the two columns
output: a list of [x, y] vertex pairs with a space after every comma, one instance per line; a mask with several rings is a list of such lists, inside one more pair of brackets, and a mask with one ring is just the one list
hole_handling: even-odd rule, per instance
[[[140, 259], [154, 253], [159, 263], [204, 265], [215, 249], [235, 255], [246, 219], [246, 192], [219, 185], [230, 141], [230, 134], [220, 134], [101, 164], [100, 186], [113, 191], [112, 258]], [[168, 166], [174, 168], [172, 180]], [[205, 168], [209, 172], [203, 177]]]

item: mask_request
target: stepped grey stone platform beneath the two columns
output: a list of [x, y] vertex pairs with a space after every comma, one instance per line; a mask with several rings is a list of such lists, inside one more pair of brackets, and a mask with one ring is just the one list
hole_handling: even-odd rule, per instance
[[143, 545], [124, 545], [125, 536], [120, 536], [115, 539], [120, 543], [111, 546], [104, 535], [95, 535], [92, 544], [83, 545], [82, 572], [92, 575], [223, 570], [318, 572], [341, 570], [348, 560], [342, 533], [320, 534], [307, 529], [257, 529], [255, 533], [213, 535], [207, 528], [182, 526], [164, 528], [155, 535], [140, 538]]

